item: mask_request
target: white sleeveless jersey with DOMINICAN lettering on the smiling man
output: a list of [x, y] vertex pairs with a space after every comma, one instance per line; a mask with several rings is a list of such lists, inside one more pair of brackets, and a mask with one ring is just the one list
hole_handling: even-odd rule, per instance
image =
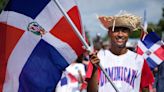
[[[139, 92], [144, 64], [142, 56], [130, 50], [120, 56], [109, 50], [100, 50], [98, 57], [119, 92]], [[116, 92], [103, 72], [100, 73], [99, 92]]]

